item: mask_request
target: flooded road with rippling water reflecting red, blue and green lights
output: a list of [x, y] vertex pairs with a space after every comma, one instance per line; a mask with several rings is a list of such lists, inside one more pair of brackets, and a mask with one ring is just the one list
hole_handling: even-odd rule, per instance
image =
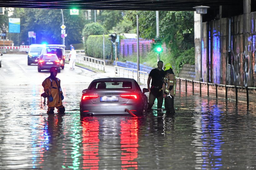
[[0, 169], [256, 168], [255, 103], [247, 110], [246, 102], [178, 92], [175, 116], [154, 105], [142, 118], [81, 117], [81, 91], [101, 75], [66, 67], [57, 75], [66, 114], [47, 115], [40, 94], [49, 73], [26, 60], [8, 71], [15, 57], [0, 69]]

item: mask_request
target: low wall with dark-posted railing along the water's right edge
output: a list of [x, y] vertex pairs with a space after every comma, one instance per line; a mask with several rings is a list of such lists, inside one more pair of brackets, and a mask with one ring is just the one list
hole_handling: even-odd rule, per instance
[[[249, 108], [249, 102], [256, 102], [256, 87], [242, 87], [223, 85], [216, 83], [206, 83], [194, 80], [188, 80], [185, 78], [176, 78], [176, 89], [179, 91], [192, 92], [207, 96], [215, 96], [216, 98], [225, 98], [238, 101], [246, 101], [247, 108]], [[205, 92], [205, 93], [202, 93]], [[238, 100], [239, 99], [239, 100]]]

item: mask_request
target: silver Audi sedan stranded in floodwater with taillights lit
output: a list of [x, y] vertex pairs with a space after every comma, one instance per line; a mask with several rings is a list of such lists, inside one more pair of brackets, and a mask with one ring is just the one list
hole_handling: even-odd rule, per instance
[[142, 116], [148, 107], [148, 97], [132, 78], [100, 78], [82, 91], [81, 116], [114, 114]]

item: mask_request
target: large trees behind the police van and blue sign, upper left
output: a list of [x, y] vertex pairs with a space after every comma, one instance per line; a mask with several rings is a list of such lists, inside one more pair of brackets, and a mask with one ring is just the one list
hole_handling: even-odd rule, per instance
[[[34, 31], [37, 43], [47, 41], [48, 44], [62, 44], [60, 28], [62, 25], [62, 13], [60, 9], [14, 8], [12, 13], [12, 18], [20, 18], [21, 20], [20, 42], [26, 42], [28, 40], [28, 31]], [[85, 23], [83, 14], [71, 16], [69, 9], [66, 9], [63, 10], [63, 17], [67, 34], [65, 38], [66, 44], [81, 42], [81, 30]], [[17, 34], [13, 33], [12, 39], [16, 45], [20, 44]], [[34, 40], [32, 43], [34, 43]]]

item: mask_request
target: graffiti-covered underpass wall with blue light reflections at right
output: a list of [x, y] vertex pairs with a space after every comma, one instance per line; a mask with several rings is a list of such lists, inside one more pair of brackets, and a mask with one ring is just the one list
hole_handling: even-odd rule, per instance
[[[207, 82], [207, 69], [209, 69], [210, 83], [256, 87], [255, 19], [256, 12], [232, 17], [231, 64], [229, 64], [228, 51], [228, 19], [211, 21], [208, 33], [205, 31], [204, 23], [202, 42], [204, 82]], [[206, 36], [209, 36], [209, 42], [206, 42]], [[206, 45], [209, 45], [209, 68], [206, 63]]]

